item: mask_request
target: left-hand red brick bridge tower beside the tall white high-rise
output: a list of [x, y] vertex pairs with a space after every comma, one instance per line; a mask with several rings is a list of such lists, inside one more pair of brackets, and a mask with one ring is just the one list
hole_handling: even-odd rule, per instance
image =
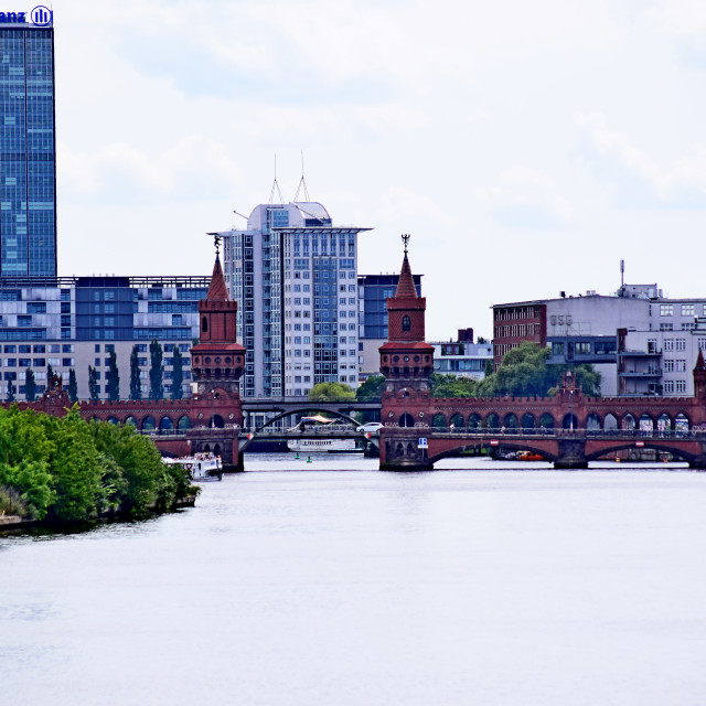
[[223, 278], [215, 237], [216, 261], [205, 299], [199, 302], [201, 338], [191, 349], [192, 376], [196, 386], [194, 413], [205, 429], [190, 432], [192, 450], [214, 451], [223, 457], [224, 468], [242, 468], [238, 434], [243, 424], [239, 379], [245, 365], [245, 349], [236, 342], [238, 304], [231, 299]]

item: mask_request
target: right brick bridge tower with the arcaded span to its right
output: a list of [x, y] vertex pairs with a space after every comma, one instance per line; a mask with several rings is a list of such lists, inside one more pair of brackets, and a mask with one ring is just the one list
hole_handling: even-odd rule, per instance
[[585, 397], [569, 372], [553, 397], [435, 398], [425, 310], [405, 245], [397, 291], [387, 300], [389, 340], [379, 349], [386, 377], [382, 469], [430, 469], [445, 457], [488, 447], [533, 451], [556, 468], [586, 468], [593, 459], [635, 448], [706, 468], [706, 363], [700, 353], [694, 397]]

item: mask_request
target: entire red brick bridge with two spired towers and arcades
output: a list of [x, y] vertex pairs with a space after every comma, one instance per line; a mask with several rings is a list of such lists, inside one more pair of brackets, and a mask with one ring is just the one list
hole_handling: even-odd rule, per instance
[[[417, 296], [414, 285], [408, 237], [403, 236], [397, 290], [387, 299], [389, 340], [379, 349], [386, 378], [382, 402], [242, 400], [245, 349], [236, 342], [237, 302], [228, 295], [216, 243], [211, 286], [199, 302], [200, 341], [191, 349], [195, 393], [176, 400], [82, 402], [81, 415], [135, 425], [152, 435], [164, 456], [214, 452], [224, 470], [232, 471], [243, 470], [243, 453], [254, 438], [287, 437], [271, 431], [284, 417], [318, 410], [354, 421], [351, 414], [363, 409], [381, 410], [384, 427], [370, 442], [379, 448], [382, 470], [430, 470], [442, 458], [482, 449], [530, 451], [557, 469], [587, 468], [589, 461], [620, 451], [654, 449], [706, 469], [706, 363], [700, 352], [694, 397], [586, 397], [570, 372], [552, 397], [432, 397], [434, 346], [425, 342], [426, 298]], [[19, 406], [62, 416], [71, 403], [54, 376], [38, 402]], [[276, 416], [246, 430], [244, 413], [254, 411]]]

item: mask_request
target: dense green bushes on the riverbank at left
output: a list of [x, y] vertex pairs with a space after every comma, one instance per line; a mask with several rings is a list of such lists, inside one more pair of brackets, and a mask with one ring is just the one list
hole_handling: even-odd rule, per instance
[[186, 472], [129, 425], [85, 421], [77, 407], [61, 418], [0, 409], [0, 512], [56, 523], [140, 517], [189, 494]]

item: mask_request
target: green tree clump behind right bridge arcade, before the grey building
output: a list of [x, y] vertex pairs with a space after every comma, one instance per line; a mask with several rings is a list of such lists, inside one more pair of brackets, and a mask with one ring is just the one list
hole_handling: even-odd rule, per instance
[[554, 394], [561, 375], [571, 370], [585, 395], [600, 394], [600, 373], [591, 365], [548, 365], [549, 349], [523, 341], [510, 351], [500, 367], [478, 385], [479, 395], [547, 396]]

